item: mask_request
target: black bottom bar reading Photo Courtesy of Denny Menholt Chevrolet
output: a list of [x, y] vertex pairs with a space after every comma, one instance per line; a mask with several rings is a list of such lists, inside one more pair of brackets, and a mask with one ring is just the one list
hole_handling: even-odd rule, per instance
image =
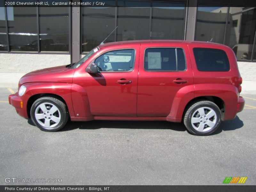
[[[42, 188], [44, 190], [42, 190]], [[73, 188], [73, 190], [72, 190]], [[31, 190], [32, 189], [32, 190]], [[40, 190], [39, 190], [40, 189]], [[50, 189], [50, 190], [49, 190]], [[55, 190], [56, 189], [56, 190]], [[1, 192], [255, 192], [256, 186], [250, 185], [1, 185]]]

